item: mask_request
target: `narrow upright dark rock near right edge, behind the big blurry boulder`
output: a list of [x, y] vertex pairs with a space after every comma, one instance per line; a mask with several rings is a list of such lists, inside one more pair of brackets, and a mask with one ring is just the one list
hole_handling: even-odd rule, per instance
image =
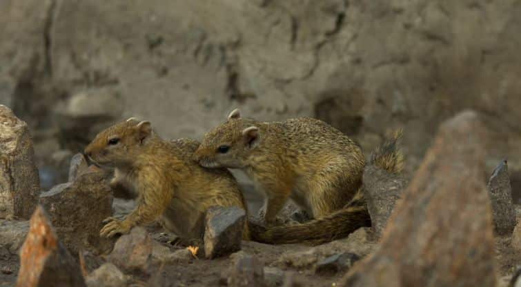
[[500, 235], [511, 234], [516, 219], [507, 161], [502, 161], [495, 168], [487, 187], [490, 192], [495, 231]]

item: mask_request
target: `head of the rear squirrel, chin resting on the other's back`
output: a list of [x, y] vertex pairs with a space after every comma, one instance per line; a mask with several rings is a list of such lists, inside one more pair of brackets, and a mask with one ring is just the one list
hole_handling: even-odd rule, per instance
[[251, 150], [260, 142], [255, 121], [241, 118], [235, 109], [228, 121], [204, 135], [193, 159], [205, 168], [244, 168]]

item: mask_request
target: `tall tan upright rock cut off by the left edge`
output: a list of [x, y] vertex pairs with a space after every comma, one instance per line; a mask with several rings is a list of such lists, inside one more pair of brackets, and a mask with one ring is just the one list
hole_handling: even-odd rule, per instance
[[28, 126], [0, 105], [0, 218], [28, 219], [40, 193]]

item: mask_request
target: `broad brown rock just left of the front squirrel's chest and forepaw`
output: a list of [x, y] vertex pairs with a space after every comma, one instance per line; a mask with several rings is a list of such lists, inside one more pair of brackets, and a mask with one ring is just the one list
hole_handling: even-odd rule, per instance
[[71, 253], [110, 251], [114, 240], [99, 236], [102, 221], [112, 215], [112, 194], [104, 172], [85, 172], [74, 182], [55, 186], [41, 194], [40, 202]]

